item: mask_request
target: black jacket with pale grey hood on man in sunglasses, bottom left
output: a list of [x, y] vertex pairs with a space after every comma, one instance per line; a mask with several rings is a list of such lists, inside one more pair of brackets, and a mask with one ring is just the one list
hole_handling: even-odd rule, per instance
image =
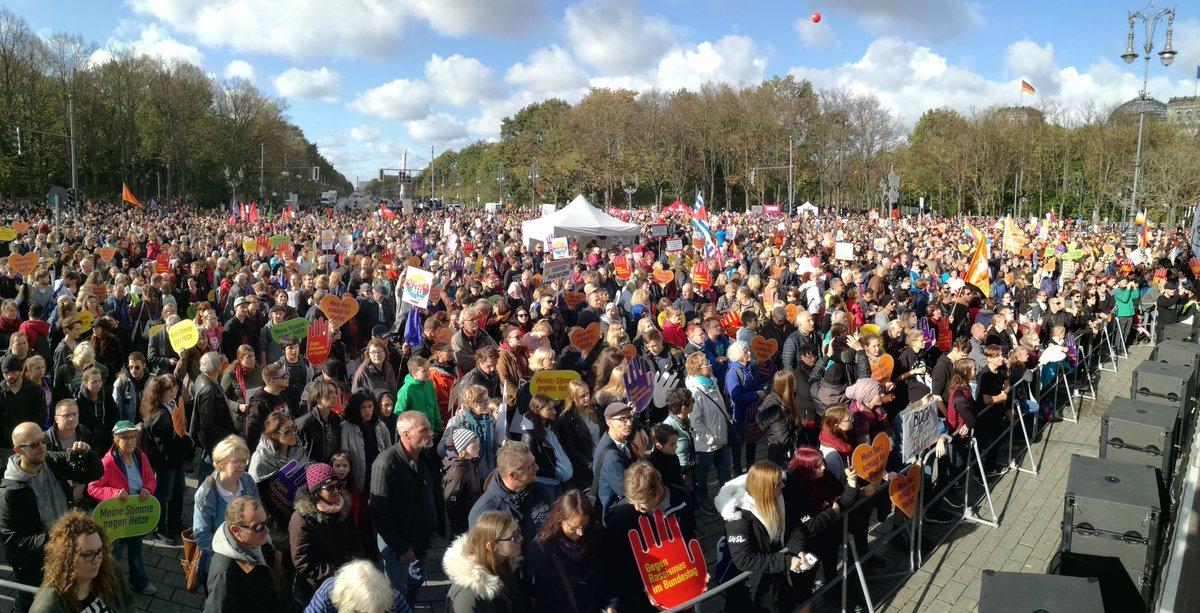
[[242, 547], [229, 525], [221, 523], [212, 536], [209, 597], [204, 613], [286, 613], [288, 599], [276, 572], [265, 564], [274, 559], [270, 543], [259, 549]]

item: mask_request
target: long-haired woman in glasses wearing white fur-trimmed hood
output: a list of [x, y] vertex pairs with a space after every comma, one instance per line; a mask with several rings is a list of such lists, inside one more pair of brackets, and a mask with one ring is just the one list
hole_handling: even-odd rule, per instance
[[529, 611], [516, 560], [521, 555], [521, 528], [511, 515], [487, 511], [470, 531], [455, 539], [442, 559], [450, 578], [449, 613], [512, 613]]

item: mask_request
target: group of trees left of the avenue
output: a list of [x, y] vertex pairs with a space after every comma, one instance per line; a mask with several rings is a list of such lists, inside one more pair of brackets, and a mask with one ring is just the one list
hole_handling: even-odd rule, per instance
[[212, 204], [229, 199], [241, 170], [238, 197], [257, 199], [260, 152], [268, 199], [350, 190], [283, 103], [250, 83], [131, 53], [96, 62], [95, 49], [79, 36], [43, 40], [0, 8], [0, 194], [38, 197], [71, 185], [68, 142], [50, 136], [70, 132], [68, 101], [80, 198], [116, 198], [124, 182], [144, 199]]

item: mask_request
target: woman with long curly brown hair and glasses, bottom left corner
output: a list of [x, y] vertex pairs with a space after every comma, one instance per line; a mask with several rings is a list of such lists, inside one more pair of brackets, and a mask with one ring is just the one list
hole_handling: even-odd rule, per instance
[[46, 575], [32, 611], [133, 612], [133, 593], [113, 564], [108, 535], [88, 513], [70, 511], [50, 528]]

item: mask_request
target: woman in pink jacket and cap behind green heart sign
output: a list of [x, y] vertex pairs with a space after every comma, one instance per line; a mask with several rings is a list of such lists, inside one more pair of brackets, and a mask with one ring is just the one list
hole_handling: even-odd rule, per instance
[[[142, 428], [132, 422], [121, 420], [113, 426], [113, 449], [100, 459], [104, 474], [88, 483], [89, 495], [100, 501], [109, 498], [124, 501], [134, 493], [145, 501], [154, 495], [158, 480], [150, 468], [150, 458], [138, 450], [140, 438]], [[125, 546], [126, 555], [130, 558], [130, 587], [145, 595], [156, 594], [158, 589], [150, 583], [145, 563], [142, 560], [142, 536], [118, 539], [113, 543], [114, 554], [119, 546]]]

